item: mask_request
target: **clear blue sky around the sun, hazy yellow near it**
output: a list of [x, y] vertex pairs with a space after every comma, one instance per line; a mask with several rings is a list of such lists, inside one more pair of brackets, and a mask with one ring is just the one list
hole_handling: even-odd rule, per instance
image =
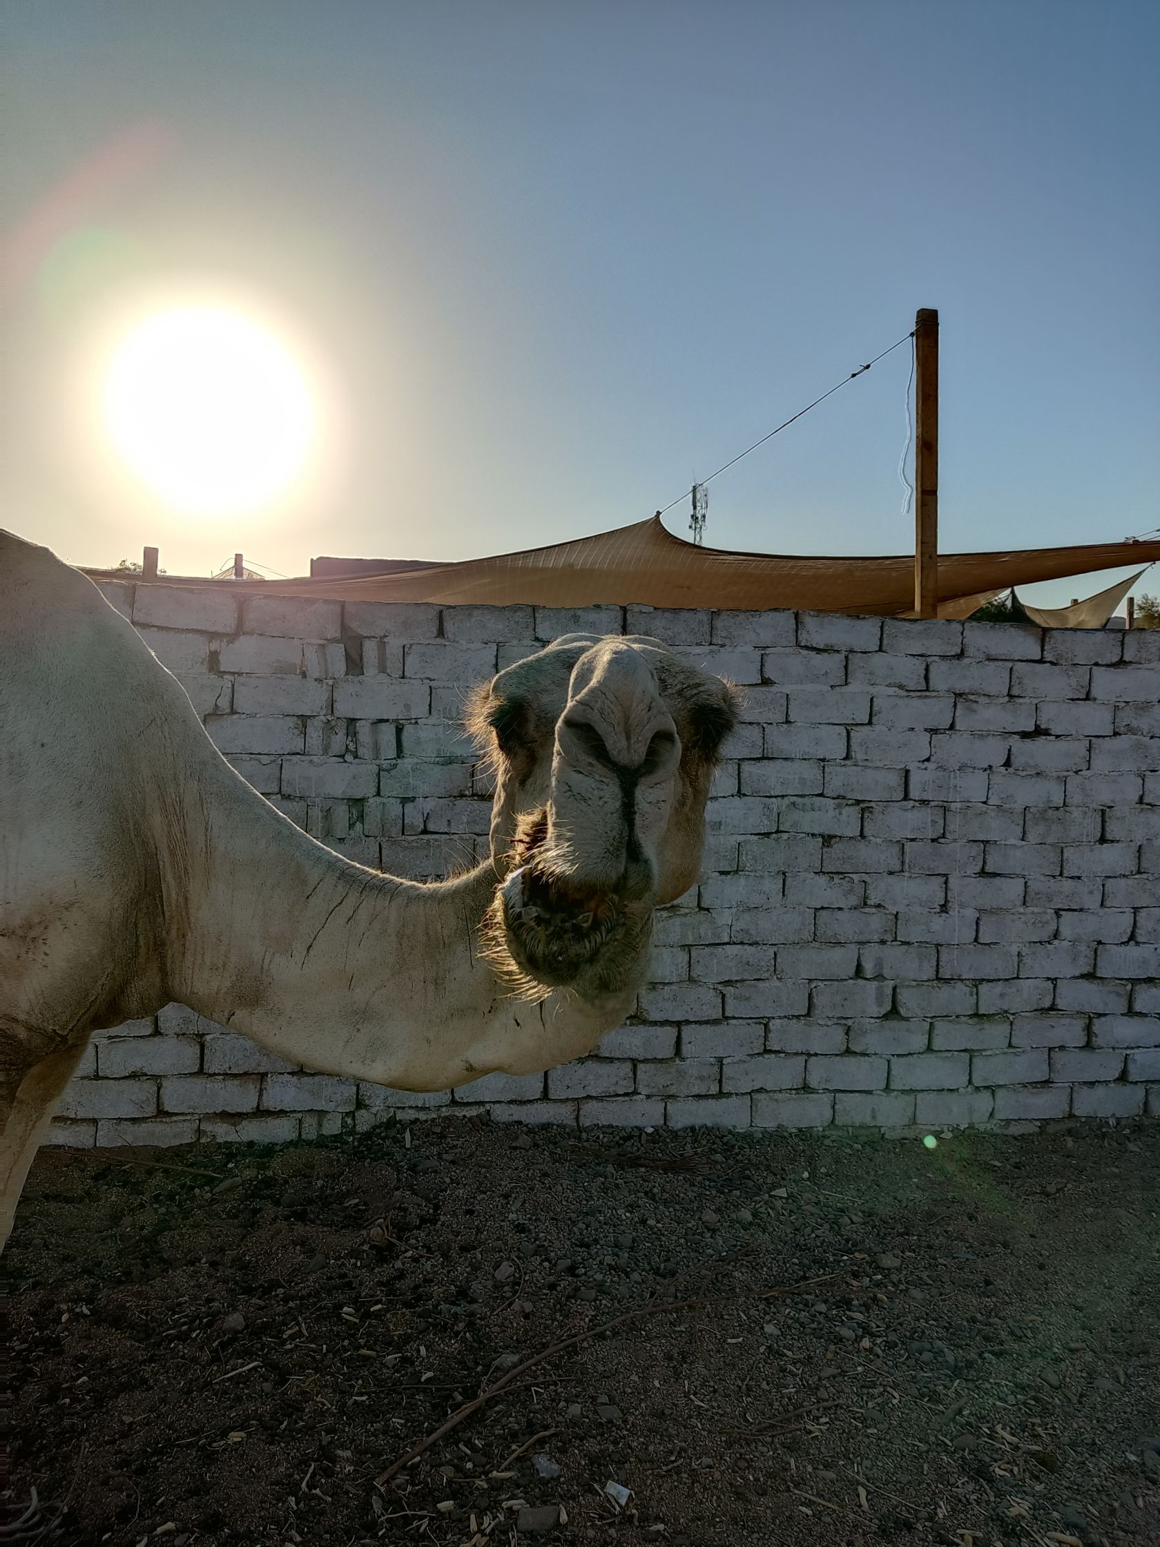
[[[1154, 0], [5, 0], [0, 29], [6, 524], [73, 563], [620, 526], [919, 306], [943, 551], [1160, 524]], [[178, 512], [102, 444], [101, 351], [178, 294], [317, 388], [325, 455], [258, 509]], [[707, 541], [909, 551], [909, 364], [716, 478]]]

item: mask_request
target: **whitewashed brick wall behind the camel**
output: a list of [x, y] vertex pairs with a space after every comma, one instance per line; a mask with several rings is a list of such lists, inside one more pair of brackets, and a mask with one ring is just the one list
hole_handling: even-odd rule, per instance
[[597, 1057], [416, 1097], [169, 1006], [94, 1040], [60, 1142], [1160, 1115], [1160, 631], [104, 589], [255, 789], [394, 874], [486, 851], [464, 695], [560, 633], [654, 634], [749, 702], [704, 880]]

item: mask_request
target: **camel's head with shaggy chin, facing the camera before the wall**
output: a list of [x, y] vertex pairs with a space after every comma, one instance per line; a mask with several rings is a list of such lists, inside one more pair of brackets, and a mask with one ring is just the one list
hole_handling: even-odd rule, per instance
[[736, 690], [656, 639], [566, 634], [479, 690], [495, 769], [492, 962], [529, 998], [616, 993], [698, 877]]

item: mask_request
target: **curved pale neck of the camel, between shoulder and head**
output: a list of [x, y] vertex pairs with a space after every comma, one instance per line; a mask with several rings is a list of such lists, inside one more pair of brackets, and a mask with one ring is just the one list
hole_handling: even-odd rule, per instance
[[[172, 995], [292, 1063], [410, 1091], [589, 1052], [633, 993], [512, 999], [479, 954], [490, 862], [421, 885], [316, 843], [221, 766], [198, 787]], [[162, 866], [162, 869], [169, 869]]]

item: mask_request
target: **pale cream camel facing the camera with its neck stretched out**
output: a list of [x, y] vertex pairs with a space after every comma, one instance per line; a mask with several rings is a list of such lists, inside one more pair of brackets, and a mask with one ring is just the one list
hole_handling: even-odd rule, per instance
[[170, 1001], [404, 1091], [591, 1052], [653, 913], [698, 879], [735, 690], [656, 639], [568, 634], [475, 693], [490, 857], [419, 883], [234, 772], [79, 571], [0, 532], [0, 1245], [94, 1030]]

